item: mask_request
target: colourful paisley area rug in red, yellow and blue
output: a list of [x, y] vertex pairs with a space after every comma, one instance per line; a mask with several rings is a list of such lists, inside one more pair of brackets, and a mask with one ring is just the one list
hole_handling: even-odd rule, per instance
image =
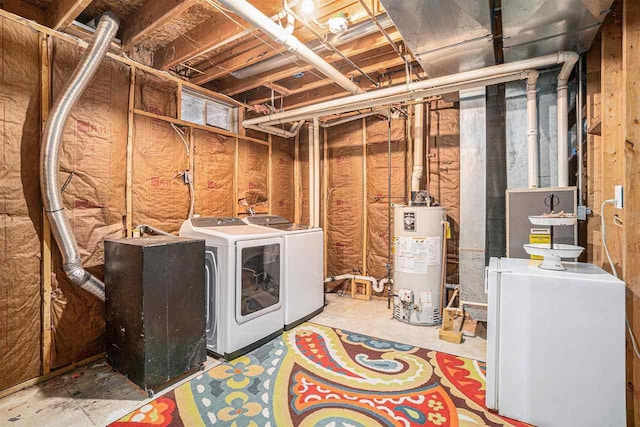
[[112, 426], [524, 426], [484, 407], [485, 364], [305, 323]]

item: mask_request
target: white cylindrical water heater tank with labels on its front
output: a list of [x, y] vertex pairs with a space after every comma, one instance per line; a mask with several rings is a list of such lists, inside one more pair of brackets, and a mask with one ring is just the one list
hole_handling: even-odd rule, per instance
[[397, 320], [437, 325], [442, 283], [443, 207], [397, 206], [394, 211], [394, 310]]

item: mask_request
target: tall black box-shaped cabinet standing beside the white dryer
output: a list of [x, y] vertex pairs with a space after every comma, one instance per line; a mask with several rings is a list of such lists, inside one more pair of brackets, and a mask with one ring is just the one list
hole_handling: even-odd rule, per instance
[[206, 359], [205, 245], [105, 240], [107, 362], [147, 391]]

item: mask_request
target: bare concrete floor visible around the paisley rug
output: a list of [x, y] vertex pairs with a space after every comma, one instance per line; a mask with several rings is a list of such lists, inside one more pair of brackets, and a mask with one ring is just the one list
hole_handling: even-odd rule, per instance
[[[360, 301], [349, 296], [328, 294], [326, 302], [324, 312], [312, 319], [313, 322], [485, 360], [486, 341], [483, 338], [465, 338], [462, 344], [440, 341], [437, 327], [411, 326], [391, 319], [386, 301]], [[218, 363], [209, 358], [207, 368]], [[183, 379], [175, 386], [198, 374]], [[144, 391], [101, 360], [0, 399], [0, 425], [104, 426], [148, 400]]]

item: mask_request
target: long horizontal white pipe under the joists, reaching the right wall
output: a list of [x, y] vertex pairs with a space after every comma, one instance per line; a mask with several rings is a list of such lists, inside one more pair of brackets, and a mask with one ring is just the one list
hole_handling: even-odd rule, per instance
[[438, 95], [461, 90], [460, 88], [472, 88], [472, 84], [475, 84], [476, 86], [488, 86], [490, 84], [524, 79], [526, 78], [526, 75], [521, 75], [523, 71], [547, 67], [554, 64], [561, 64], [567, 58], [570, 58], [571, 54], [573, 54], [573, 52], [557, 52], [523, 61], [509, 62], [478, 70], [465, 71], [448, 76], [427, 79], [420, 82], [377, 89], [367, 93], [350, 95], [330, 101], [319, 102], [315, 105], [295, 108], [281, 113], [245, 120], [243, 124], [246, 126], [255, 124], [274, 125], [288, 123], [295, 120], [309, 119], [313, 117], [354, 111], [361, 108], [385, 105], [389, 102], [402, 102], [409, 99], [424, 98], [429, 95]]

